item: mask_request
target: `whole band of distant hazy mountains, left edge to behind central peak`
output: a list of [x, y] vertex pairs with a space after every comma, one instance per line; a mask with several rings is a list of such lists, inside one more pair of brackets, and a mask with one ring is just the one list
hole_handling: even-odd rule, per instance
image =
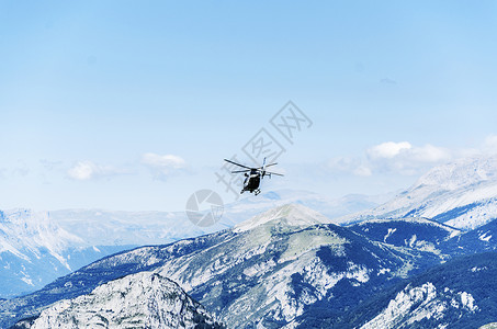
[[0, 297], [43, 287], [108, 254], [136, 246], [163, 245], [234, 226], [287, 201], [343, 215], [376, 205], [382, 196], [350, 195], [328, 200], [305, 191], [283, 190], [227, 204], [223, 220], [194, 226], [184, 212], [111, 212], [65, 209], [0, 212]]

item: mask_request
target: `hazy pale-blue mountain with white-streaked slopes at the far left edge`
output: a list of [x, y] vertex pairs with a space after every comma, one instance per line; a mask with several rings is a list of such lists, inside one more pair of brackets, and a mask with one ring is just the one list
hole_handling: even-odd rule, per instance
[[0, 212], [0, 297], [43, 287], [124, 246], [91, 246], [67, 231], [46, 212]]

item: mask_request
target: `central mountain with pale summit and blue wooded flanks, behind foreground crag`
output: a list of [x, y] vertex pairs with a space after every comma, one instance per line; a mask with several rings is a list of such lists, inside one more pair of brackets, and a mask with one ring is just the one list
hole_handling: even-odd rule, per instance
[[302, 205], [285, 205], [224, 231], [108, 257], [0, 303], [0, 325], [123, 275], [153, 271], [228, 327], [292, 328], [314, 317], [339, 319], [375, 291], [440, 262], [432, 252], [372, 241], [321, 220]]

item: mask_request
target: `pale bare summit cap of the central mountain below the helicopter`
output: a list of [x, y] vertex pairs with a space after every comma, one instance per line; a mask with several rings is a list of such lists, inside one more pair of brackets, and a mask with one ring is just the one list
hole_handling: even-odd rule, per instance
[[291, 203], [256, 215], [236, 225], [234, 230], [237, 232], [246, 231], [273, 220], [279, 223], [284, 222], [287, 226], [309, 226], [329, 223], [329, 219], [318, 212], [301, 204]]

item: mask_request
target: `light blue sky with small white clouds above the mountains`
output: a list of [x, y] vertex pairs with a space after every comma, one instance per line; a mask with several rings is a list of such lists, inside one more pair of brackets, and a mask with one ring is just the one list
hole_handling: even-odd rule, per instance
[[496, 13], [495, 1], [1, 1], [0, 208], [182, 209], [199, 189], [223, 191], [222, 159], [289, 100], [313, 125], [266, 189], [407, 188], [495, 150]]

